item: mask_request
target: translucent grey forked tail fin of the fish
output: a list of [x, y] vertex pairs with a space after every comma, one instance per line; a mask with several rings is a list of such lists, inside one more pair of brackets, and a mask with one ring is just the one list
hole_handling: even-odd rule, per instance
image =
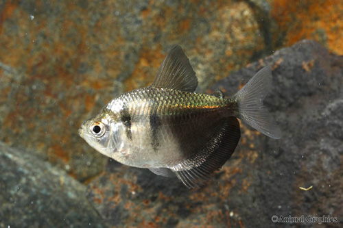
[[238, 103], [237, 117], [270, 138], [281, 138], [279, 126], [263, 106], [263, 99], [272, 86], [272, 69], [265, 66], [235, 94]]

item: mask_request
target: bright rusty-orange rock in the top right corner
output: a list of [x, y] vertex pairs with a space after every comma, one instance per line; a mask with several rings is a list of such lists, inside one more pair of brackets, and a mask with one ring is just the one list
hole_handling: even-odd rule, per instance
[[[259, 0], [254, 0], [259, 1]], [[313, 39], [343, 55], [343, 1], [270, 1], [274, 47]]]

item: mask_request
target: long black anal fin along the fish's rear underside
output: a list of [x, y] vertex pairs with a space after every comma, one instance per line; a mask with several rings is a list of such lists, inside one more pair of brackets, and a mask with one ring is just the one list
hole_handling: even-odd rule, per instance
[[235, 117], [224, 121], [217, 132], [200, 153], [194, 154], [185, 162], [171, 168], [178, 179], [187, 188], [200, 188], [213, 174], [219, 170], [235, 151], [241, 132], [239, 122]]

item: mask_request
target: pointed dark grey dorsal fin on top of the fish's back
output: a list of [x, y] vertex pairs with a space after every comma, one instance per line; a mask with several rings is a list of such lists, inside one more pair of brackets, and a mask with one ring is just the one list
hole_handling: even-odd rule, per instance
[[158, 69], [152, 87], [194, 92], [196, 73], [179, 45], [174, 46]]

